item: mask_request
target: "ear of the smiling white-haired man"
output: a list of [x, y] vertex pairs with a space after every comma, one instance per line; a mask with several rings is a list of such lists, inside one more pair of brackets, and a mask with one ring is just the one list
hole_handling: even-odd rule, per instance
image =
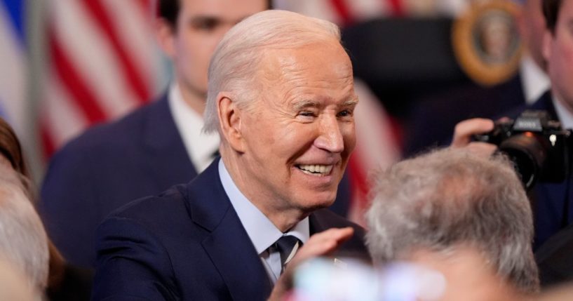
[[243, 133], [241, 132], [241, 109], [227, 92], [217, 95], [217, 114], [221, 135], [236, 152], [245, 152]]

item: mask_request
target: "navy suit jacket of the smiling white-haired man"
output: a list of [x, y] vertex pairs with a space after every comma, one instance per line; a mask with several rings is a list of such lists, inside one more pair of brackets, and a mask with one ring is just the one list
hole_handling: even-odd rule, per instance
[[[266, 300], [271, 281], [217, 161], [188, 185], [134, 201], [98, 227], [93, 300]], [[342, 250], [367, 254], [357, 225], [324, 209], [309, 218], [311, 234], [354, 227]]]

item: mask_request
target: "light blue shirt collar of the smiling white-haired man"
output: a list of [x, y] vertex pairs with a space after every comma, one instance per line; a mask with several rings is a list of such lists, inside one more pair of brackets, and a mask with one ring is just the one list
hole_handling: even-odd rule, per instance
[[251, 203], [243, 193], [238, 189], [225, 167], [223, 160], [219, 161], [219, 176], [227, 196], [235, 209], [241, 224], [245, 228], [252, 244], [257, 250], [257, 254], [261, 254], [267, 250], [269, 246], [275, 243], [283, 235], [296, 236], [297, 239], [306, 243], [309, 240], [309, 218], [295, 225], [289, 232], [281, 232], [274, 224], [264, 215], [257, 206]]

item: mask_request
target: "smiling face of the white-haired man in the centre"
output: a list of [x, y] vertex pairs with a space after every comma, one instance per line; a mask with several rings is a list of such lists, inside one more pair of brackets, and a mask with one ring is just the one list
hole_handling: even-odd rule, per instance
[[241, 190], [275, 212], [330, 206], [356, 144], [348, 55], [330, 41], [267, 51], [261, 66], [264, 91], [241, 117]]

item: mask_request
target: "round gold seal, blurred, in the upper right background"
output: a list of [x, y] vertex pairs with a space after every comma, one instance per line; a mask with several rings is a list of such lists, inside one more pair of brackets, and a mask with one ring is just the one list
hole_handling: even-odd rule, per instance
[[473, 81], [492, 86], [517, 72], [522, 53], [519, 9], [511, 1], [479, 1], [454, 22], [454, 54]]

